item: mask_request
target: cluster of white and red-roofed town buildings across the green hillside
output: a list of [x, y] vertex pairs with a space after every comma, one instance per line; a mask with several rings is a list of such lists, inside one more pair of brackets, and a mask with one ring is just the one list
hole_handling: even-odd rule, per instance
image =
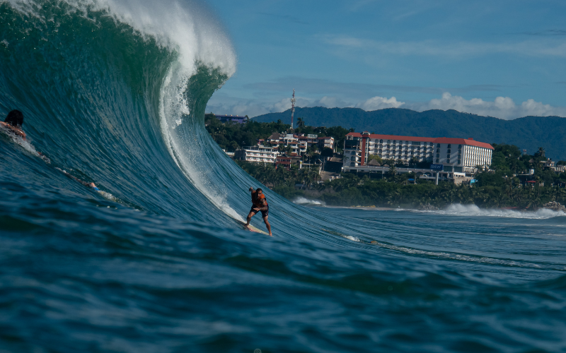
[[[218, 115], [223, 124], [246, 124], [246, 116]], [[304, 125], [299, 118], [299, 124]], [[300, 130], [300, 128], [299, 128]], [[432, 181], [434, 184], [473, 184], [478, 172], [491, 169], [494, 148], [489, 143], [473, 138], [392, 136], [349, 131], [341, 145], [334, 136], [300, 133], [287, 128], [257, 138], [254, 145], [238, 147], [226, 153], [234, 160], [251, 163], [270, 163], [275, 168], [315, 168], [318, 182], [338, 179], [345, 173], [369, 179], [388, 179], [395, 174], [410, 176], [412, 184]], [[526, 154], [526, 151], [522, 152]], [[519, 158], [519, 157], [518, 157]], [[534, 160], [529, 160], [534, 163]], [[556, 164], [550, 158], [536, 161], [543, 170], [555, 174], [566, 172], [566, 165]], [[517, 170], [508, 177], [516, 177], [521, 184], [536, 184], [535, 169]], [[544, 181], [541, 181], [544, 186]]]

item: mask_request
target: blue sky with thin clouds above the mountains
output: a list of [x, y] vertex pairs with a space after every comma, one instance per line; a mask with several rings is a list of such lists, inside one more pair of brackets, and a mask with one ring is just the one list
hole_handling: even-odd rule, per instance
[[566, 1], [209, 0], [238, 55], [216, 114], [300, 107], [566, 116]]

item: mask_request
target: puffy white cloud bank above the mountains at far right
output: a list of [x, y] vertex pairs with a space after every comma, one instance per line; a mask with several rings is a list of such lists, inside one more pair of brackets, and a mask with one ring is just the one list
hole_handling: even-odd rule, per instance
[[466, 100], [457, 95], [453, 96], [449, 92], [444, 92], [440, 99], [410, 104], [408, 108], [419, 112], [429, 109], [454, 109], [458, 112], [495, 116], [500, 119], [516, 119], [521, 116], [566, 116], [566, 107], [552, 107], [550, 104], [543, 104], [532, 99], [517, 105], [509, 97], [497, 97], [490, 102], [480, 98]]

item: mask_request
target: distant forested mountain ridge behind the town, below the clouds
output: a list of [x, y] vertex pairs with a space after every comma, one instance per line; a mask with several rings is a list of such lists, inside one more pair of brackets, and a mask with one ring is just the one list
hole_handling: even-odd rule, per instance
[[[525, 116], [503, 120], [456, 110], [381, 109], [366, 112], [358, 108], [296, 108], [296, 118], [306, 125], [342, 126], [355, 131], [388, 135], [473, 138], [487, 143], [509, 143], [534, 153], [539, 147], [553, 160], [566, 160], [566, 119], [558, 116]], [[291, 122], [290, 109], [253, 118], [254, 121]]]

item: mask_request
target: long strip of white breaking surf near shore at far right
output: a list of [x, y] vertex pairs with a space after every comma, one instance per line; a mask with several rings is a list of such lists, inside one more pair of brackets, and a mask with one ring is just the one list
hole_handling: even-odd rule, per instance
[[566, 213], [562, 211], [548, 210], [547, 208], [539, 208], [536, 211], [522, 210], [503, 210], [493, 208], [479, 208], [476, 205], [461, 205], [456, 203], [449, 205], [444, 210], [424, 211], [430, 213], [438, 213], [441, 215], [463, 215], [463, 216], [482, 216], [482, 217], [504, 217], [504, 218], [526, 218], [535, 220], [544, 220], [553, 217], [562, 217]]

